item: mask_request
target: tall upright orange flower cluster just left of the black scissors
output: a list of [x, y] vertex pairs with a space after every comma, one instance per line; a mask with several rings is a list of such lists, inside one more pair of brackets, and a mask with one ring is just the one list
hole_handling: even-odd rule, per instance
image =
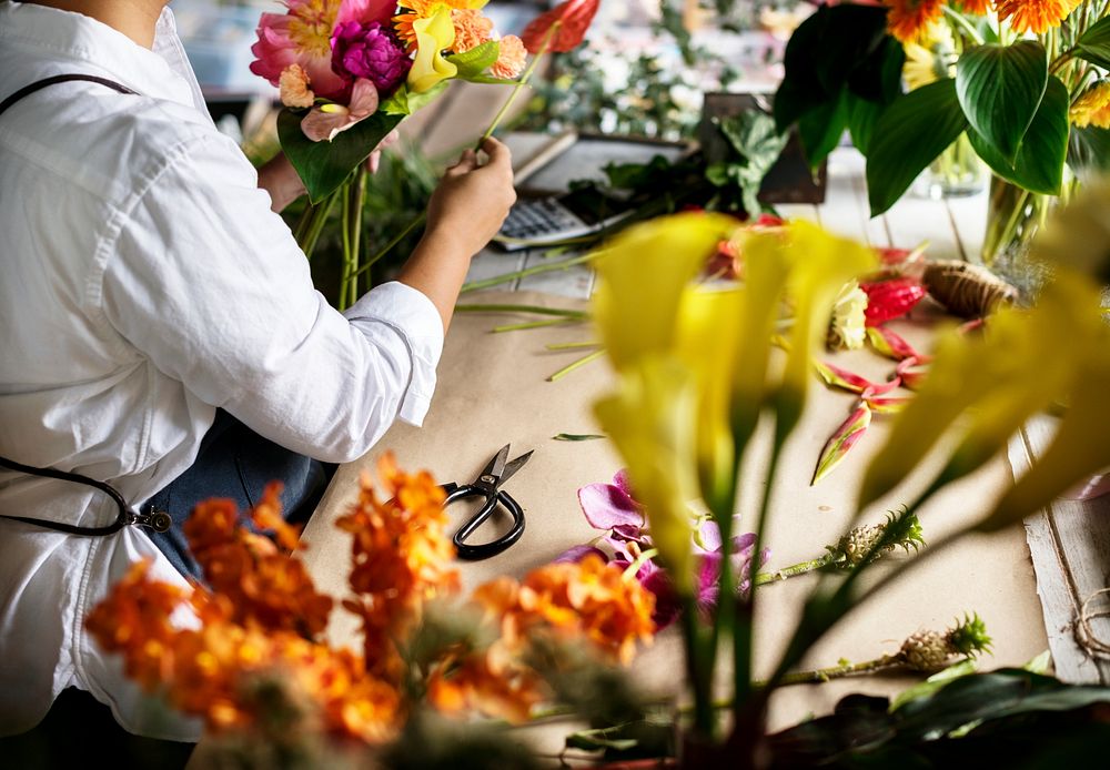
[[420, 620], [424, 602], [458, 588], [452, 567], [455, 547], [447, 537], [446, 497], [431, 474], [405, 474], [393, 455], [379, 460], [390, 497], [379, 499], [369, 475], [359, 500], [335, 521], [351, 533], [351, 588], [356, 598], [343, 606], [362, 619], [371, 671], [397, 681], [402, 660], [394, 642]]

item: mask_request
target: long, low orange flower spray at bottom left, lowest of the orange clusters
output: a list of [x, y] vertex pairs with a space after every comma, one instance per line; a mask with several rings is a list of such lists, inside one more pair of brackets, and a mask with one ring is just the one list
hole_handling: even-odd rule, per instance
[[[186, 596], [152, 580], [149, 568], [135, 565], [85, 621], [101, 647], [122, 655], [128, 677], [143, 690], [221, 731], [252, 725], [265, 705], [251, 698], [251, 682], [280, 676], [316, 703], [325, 732], [371, 743], [395, 734], [401, 696], [367, 677], [360, 657], [290, 631], [241, 625], [228, 597], [200, 587]], [[185, 609], [196, 627], [174, 628], [170, 617]]]

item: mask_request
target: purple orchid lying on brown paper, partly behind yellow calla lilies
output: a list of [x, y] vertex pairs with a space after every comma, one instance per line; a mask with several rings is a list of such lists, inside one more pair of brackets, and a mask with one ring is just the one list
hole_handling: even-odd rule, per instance
[[[627, 569], [637, 561], [640, 554], [654, 548], [652, 535], [645, 529], [647, 520], [644, 507], [633, 497], [628, 485], [628, 474], [619, 470], [612, 484], [591, 484], [578, 490], [578, 505], [594, 529], [608, 534], [591, 544], [575, 546], [563, 553], [556, 561], [579, 561], [587, 554], [597, 554], [606, 561]], [[720, 592], [720, 560], [723, 544], [717, 523], [704, 519], [693, 536], [697, 559], [697, 605], [708, 611], [717, 604]], [[734, 574], [746, 576], [755, 535], [747, 533], [733, 538], [731, 559]], [[759, 565], [766, 564], [769, 551], [765, 548]], [[758, 568], [758, 565], [757, 565]], [[679, 604], [674, 584], [666, 570], [652, 559], [644, 560], [636, 571], [636, 579], [655, 594], [655, 625], [657, 629], [669, 626], [678, 617]], [[739, 590], [748, 589], [748, 580], [740, 581]]]

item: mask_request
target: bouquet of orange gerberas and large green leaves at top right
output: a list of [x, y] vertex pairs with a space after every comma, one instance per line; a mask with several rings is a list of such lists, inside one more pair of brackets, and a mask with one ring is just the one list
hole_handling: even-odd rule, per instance
[[1028, 244], [1074, 179], [1110, 164], [1108, 11], [1102, 0], [829, 3], [790, 39], [776, 119], [797, 123], [811, 164], [849, 130], [872, 215], [966, 139], [996, 176], [989, 265]]

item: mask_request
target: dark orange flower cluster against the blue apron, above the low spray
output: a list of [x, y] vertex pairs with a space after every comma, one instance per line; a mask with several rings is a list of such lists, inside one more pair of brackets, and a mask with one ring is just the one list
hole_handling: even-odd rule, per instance
[[[266, 487], [252, 518], [255, 527], [274, 530], [279, 543], [293, 550], [300, 533], [282, 519], [281, 488], [280, 484]], [[201, 503], [183, 530], [204, 579], [234, 608], [235, 622], [307, 639], [326, 628], [331, 597], [316, 592], [302, 561], [289, 558], [270, 538], [240, 527], [234, 501]]]

